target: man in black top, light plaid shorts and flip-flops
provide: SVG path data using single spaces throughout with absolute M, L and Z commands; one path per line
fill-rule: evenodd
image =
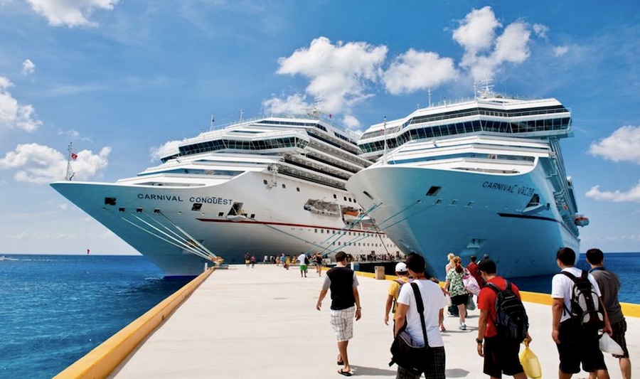
M 362 317 L 360 295 L 358 294 L 358 278 L 353 270 L 346 267 L 348 257 L 346 252 L 336 253 L 336 266 L 326 272 L 324 283 L 316 303 L 320 310 L 322 300 L 331 290 L 331 326 L 334 327 L 338 339 L 338 365 L 344 365 L 338 370 L 340 375 L 351 376 L 351 365 L 347 354 L 349 340 L 353 338 L 353 319 Z

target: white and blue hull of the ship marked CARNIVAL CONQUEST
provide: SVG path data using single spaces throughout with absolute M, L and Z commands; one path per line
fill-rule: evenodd
M 206 262 L 210 264 L 206 257 L 184 248 L 183 244 L 192 243 L 191 240 L 231 264 L 244 262 L 245 253 L 261 261 L 264 255 L 282 253 L 398 252 L 384 233 L 358 228 L 346 231 L 340 215 L 304 209 L 309 199 L 356 205 L 346 191 L 284 176 L 278 178 L 277 185 L 267 186 L 272 178 L 264 172 L 249 171 L 228 181 L 202 186 L 71 181 L 51 186 L 154 262 L 166 277 L 195 276 Z M 201 208 L 195 210 L 196 203 Z M 236 203 L 242 204 L 244 216 L 233 217 Z

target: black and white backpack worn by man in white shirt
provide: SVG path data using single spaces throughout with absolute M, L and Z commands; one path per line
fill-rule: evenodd
M 564 311 L 571 316 L 580 331 L 597 335 L 597 331 L 604 328 L 604 309 L 600 306 L 598 295 L 587 277 L 588 273 L 582 270 L 580 277 L 566 271 L 562 271 L 562 274 L 573 281 L 571 309 L 567 309 L 565 305 Z

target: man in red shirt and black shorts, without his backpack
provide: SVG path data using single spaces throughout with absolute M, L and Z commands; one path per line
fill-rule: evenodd
M 499 289 L 506 289 L 503 277 L 496 274 L 496 262 L 493 260 L 481 260 L 478 264 L 479 272 L 485 283 L 493 283 Z M 516 284 L 511 283 L 511 290 L 520 298 L 520 292 Z M 501 378 L 502 374 L 512 375 L 516 379 L 526 379 L 524 369 L 518 358 L 520 342 L 506 341 L 498 336 L 496 330 L 496 299 L 498 294 L 488 286 L 482 287 L 478 296 L 478 308 L 480 319 L 478 320 L 478 355 L 484 357 L 483 372 L 491 379 Z M 531 337 L 527 333 L 526 339 Z

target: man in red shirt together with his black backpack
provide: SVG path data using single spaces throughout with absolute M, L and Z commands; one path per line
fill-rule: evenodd
M 478 296 L 478 355 L 484 357 L 483 372 L 492 379 L 502 374 L 526 379 L 518 358 L 520 343 L 530 342 L 528 317 L 516 284 L 498 277 L 496 262 L 481 260 L 478 270 L 486 283 Z

